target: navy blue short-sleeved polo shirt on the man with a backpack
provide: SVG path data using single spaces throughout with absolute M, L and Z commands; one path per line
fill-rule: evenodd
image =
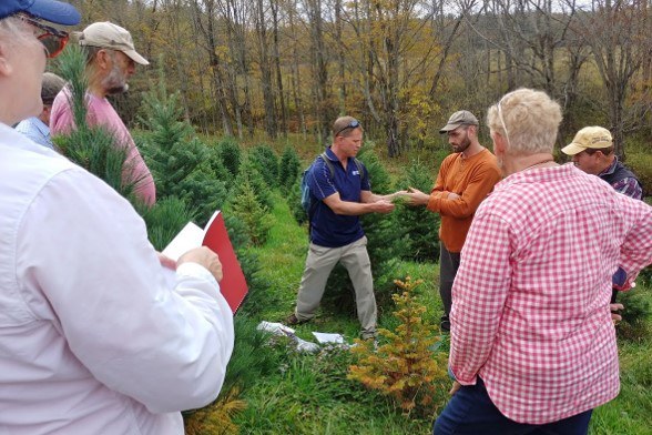
M 310 220 L 310 241 L 319 246 L 340 247 L 365 235 L 360 219 L 335 214 L 324 199 L 339 192 L 343 201 L 360 202 L 360 192 L 371 188 L 366 168 L 360 165 L 364 172 L 360 174 L 353 158 L 348 159 L 345 170 L 330 148 L 326 150 L 326 156 L 333 163 L 335 174 L 332 176 L 326 163 L 317 159 L 308 176 L 310 192 L 318 200 Z

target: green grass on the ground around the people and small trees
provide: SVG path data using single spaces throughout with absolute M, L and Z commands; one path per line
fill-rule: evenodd
M 283 322 L 292 313 L 307 249 L 305 227 L 296 224 L 288 206 L 275 194 L 273 229 L 267 243 L 255 249 L 263 277 L 276 303 L 262 308 L 261 318 Z M 421 279 L 420 302 L 428 307 L 427 320 L 436 323 L 440 315 L 437 292 L 438 266 L 431 263 L 404 262 L 399 276 Z M 649 287 L 635 290 L 652 297 Z M 327 293 L 337 292 L 327 289 Z M 391 306 L 379 306 L 379 325 L 391 327 Z M 626 315 L 626 312 L 625 312 Z M 646 325 L 652 321 L 648 316 Z M 350 312 L 325 304 L 317 317 L 296 327 L 297 335 L 315 342 L 312 331 L 342 333 L 350 343 L 357 337 L 358 322 Z M 649 330 L 648 330 L 649 331 Z M 447 350 L 444 337 L 442 351 Z M 636 341 L 621 341 L 622 391 L 613 402 L 598 408 L 590 434 L 652 434 L 652 348 L 650 335 Z M 236 338 L 237 346 L 237 338 Z M 283 345 L 281 345 L 283 346 Z M 262 347 L 256 352 L 283 352 L 272 373 L 249 380 L 242 393 L 247 408 L 235 417 L 242 434 L 429 434 L 432 416 L 416 417 L 401 412 L 384 396 L 346 378 L 352 355 L 348 351 L 296 354 L 289 347 Z M 436 397 L 439 407 L 448 398 L 448 383 Z

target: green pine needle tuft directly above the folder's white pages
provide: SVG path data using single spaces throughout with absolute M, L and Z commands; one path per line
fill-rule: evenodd
M 183 200 L 167 196 L 156 201 L 154 206 L 145 208 L 142 215 L 150 242 L 156 251 L 163 251 L 185 224 L 194 219 L 195 213 Z

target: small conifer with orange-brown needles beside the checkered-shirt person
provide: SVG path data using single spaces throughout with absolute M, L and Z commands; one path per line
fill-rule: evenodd
M 359 361 L 349 367 L 348 378 L 393 397 L 405 413 L 430 415 L 436 406 L 436 384 L 446 378 L 446 357 L 432 355 L 439 337 L 435 326 L 424 321 L 426 307 L 412 294 L 421 282 L 408 276 L 395 283 L 403 290 L 393 296 L 398 326 L 395 332 L 378 330 L 387 338 L 378 350 L 368 341 L 356 340 L 352 352 Z

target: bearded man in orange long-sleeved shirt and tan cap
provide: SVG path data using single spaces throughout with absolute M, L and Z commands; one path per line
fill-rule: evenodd
M 478 142 L 478 119 L 468 110 L 455 112 L 439 130 L 448 134 L 454 153 L 444 159 L 430 194 L 410 188 L 411 205 L 426 205 L 441 215 L 439 227 L 439 294 L 444 304 L 441 330 L 450 331 L 451 289 L 460 252 L 480 202 L 500 181 L 496 156 Z

